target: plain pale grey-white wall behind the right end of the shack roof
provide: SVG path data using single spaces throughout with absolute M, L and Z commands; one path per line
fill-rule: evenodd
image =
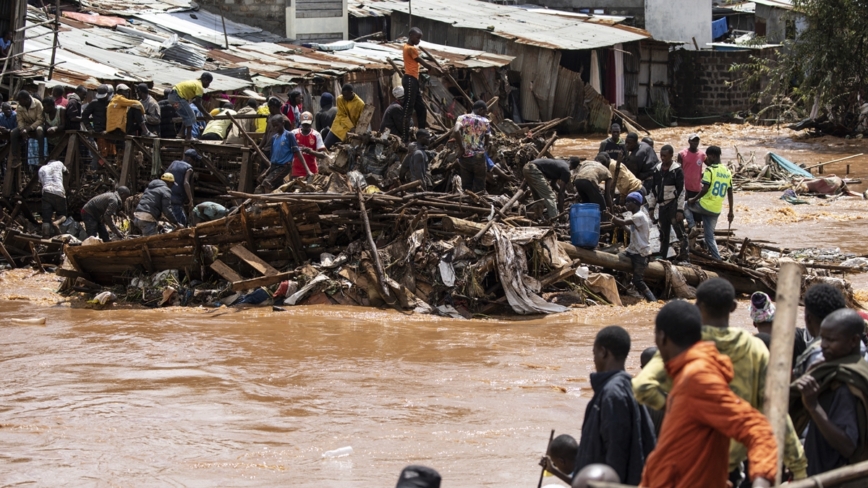
M 660 41 L 681 41 L 685 49 L 708 49 L 712 0 L 645 0 L 645 30 Z

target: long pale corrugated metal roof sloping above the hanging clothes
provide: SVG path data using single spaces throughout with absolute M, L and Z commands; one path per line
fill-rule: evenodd
M 384 12 L 408 12 L 408 4 L 398 0 L 356 0 L 355 3 Z M 519 44 L 549 49 L 597 49 L 651 37 L 641 29 L 473 0 L 413 0 L 413 16 L 452 27 L 487 31 Z

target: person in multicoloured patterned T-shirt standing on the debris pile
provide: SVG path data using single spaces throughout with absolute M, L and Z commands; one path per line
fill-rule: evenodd
M 482 100 L 477 100 L 473 104 L 473 111 L 458 116 L 452 129 L 455 141 L 458 143 L 458 174 L 461 176 L 461 187 L 474 193 L 485 191 L 485 176 L 488 172 L 485 148 L 491 138 L 491 121 L 486 117 L 487 114 L 488 105 Z M 407 120 L 406 113 L 404 120 Z

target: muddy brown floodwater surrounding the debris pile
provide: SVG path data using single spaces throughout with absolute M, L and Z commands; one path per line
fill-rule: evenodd
M 724 157 L 742 138 L 743 154 L 774 147 L 799 162 L 861 152 L 740 126 L 655 131 L 657 147 L 694 130 L 730 134 L 714 136 Z M 598 143 L 557 151 L 588 155 Z M 866 163 L 851 173 L 868 175 Z M 733 228 L 868 252 L 866 202 L 777 198 L 737 194 Z M 550 429 L 580 432 L 596 332 L 630 331 L 635 373 L 660 306 L 501 321 L 338 307 L 99 312 L 58 303 L 56 278 L 27 273 L 0 283 L 3 486 L 393 486 L 405 465 L 425 464 L 444 487 L 530 487 Z M 34 316 L 47 324 L 8 320 Z M 746 302 L 733 320 L 753 330 Z M 343 446 L 353 454 L 322 458 Z

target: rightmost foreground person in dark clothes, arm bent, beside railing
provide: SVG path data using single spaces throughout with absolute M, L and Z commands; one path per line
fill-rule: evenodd
M 790 413 L 798 425 L 799 420 L 808 424 L 809 476 L 855 464 L 868 454 L 868 362 L 860 353 L 864 333 L 865 321 L 855 310 L 829 314 L 820 326 L 823 362 L 792 384 L 801 402 L 791 403 Z

